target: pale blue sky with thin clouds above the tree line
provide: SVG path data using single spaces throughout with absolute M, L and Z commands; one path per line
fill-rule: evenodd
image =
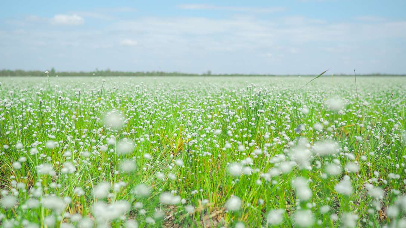
M 406 1 L 11 1 L 0 69 L 406 73 Z

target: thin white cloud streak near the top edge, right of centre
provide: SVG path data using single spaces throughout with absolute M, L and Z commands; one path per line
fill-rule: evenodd
M 216 6 L 209 4 L 181 4 L 178 5 L 181 9 L 211 9 L 211 10 L 227 10 L 239 11 L 247 13 L 274 13 L 284 11 L 282 7 L 239 7 L 239 6 Z

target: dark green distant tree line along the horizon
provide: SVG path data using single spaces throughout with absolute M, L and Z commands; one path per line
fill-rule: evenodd
M 90 72 L 79 71 L 55 71 L 54 68 L 48 70 L 50 76 L 98 76 L 98 77 L 108 77 L 108 76 L 147 76 L 147 77 L 159 77 L 159 76 L 299 76 L 299 75 L 272 75 L 272 74 L 213 74 L 211 71 L 207 71 L 202 74 L 197 73 L 181 73 L 181 72 L 163 72 L 163 71 L 137 71 L 137 72 L 128 72 L 128 71 L 110 71 L 106 70 L 95 70 Z M 45 76 L 45 71 L 24 71 L 24 70 L 7 70 L 3 69 L 0 71 L 0 77 L 14 77 L 14 76 L 28 76 L 28 77 L 38 77 Z M 328 73 L 326 73 L 328 75 Z M 331 75 L 331 74 L 330 74 Z M 308 75 L 302 75 L 308 76 Z M 309 75 L 310 76 L 310 75 Z M 353 76 L 345 74 L 334 74 L 334 76 Z M 406 76 L 404 74 L 365 74 L 357 76 Z

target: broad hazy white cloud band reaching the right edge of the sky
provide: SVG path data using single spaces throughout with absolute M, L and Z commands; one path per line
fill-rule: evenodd
M 250 17 L 211 19 L 205 17 L 158 18 L 147 17 L 121 21 L 114 29 L 142 34 L 142 37 L 162 41 L 194 44 L 202 39 L 214 44 L 241 43 L 247 45 L 272 45 L 275 43 L 304 44 L 307 42 L 353 42 L 406 36 L 406 21 L 380 23 L 327 23 L 311 19 L 285 18 L 263 20 Z M 371 36 L 371 34 L 374 34 Z M 127 34 L 128 35 L 128 34 Z M 197 37 L 188 37 L 196 35 Z M 186 38 L 187 37 L 187 38 Z M 167 43 L 165 43 L 167 44 Z

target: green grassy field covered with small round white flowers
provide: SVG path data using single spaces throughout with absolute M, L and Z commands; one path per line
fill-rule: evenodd
M 311 79 L 2 77 L 0 224 L 406 227 L 406 78 Z

